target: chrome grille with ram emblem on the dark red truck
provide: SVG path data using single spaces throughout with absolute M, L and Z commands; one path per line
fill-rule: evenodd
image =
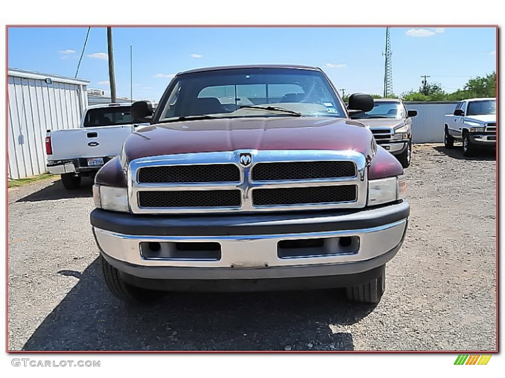
M 352 150 L 145 157 L 128 167 L 130 210 L 163 214 L 360 208 L 366 205 L 365 167 L 365 156 Z

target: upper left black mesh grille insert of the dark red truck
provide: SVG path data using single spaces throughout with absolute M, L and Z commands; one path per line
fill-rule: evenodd
M 164 165 L 138 170 L 139 183 L 238 182 L 235 164 Z

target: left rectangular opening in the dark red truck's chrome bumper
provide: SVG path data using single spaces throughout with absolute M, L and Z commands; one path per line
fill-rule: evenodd
M 221 260 L 221 244 L 218 242 L 140 242 L 143 259 L 154 260 Z

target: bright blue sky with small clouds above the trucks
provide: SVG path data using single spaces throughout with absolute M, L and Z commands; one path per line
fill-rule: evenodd
M 9 28 L 9 67 L 74 77 L 87 28 Z M 345 93 L 382 94 L 385 28 L 376 27 L 116 27 L 116 86 L 133 97 L 158 100 L 173 74 L 235 64 L 321 67 Z M 482 27 L 391 28 L 393 90 L 421 85 L 421 75 L 453 92 L 496 70 L 496 31 Z M 107 30 L 92 27 L 78 77 L 109 91 Z M 341 93 L 341 92 L 340 92 Z

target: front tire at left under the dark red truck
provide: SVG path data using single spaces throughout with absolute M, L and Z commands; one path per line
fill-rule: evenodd
M 130 304 L 156 303 L 163 297 L 163 294 L 158 291 L 129 285 L 121 278 L 119 271 L 110 265 L 102 255 L 100 255 L 100 259 L 102 260 L 105 283 L 115 297 Z

